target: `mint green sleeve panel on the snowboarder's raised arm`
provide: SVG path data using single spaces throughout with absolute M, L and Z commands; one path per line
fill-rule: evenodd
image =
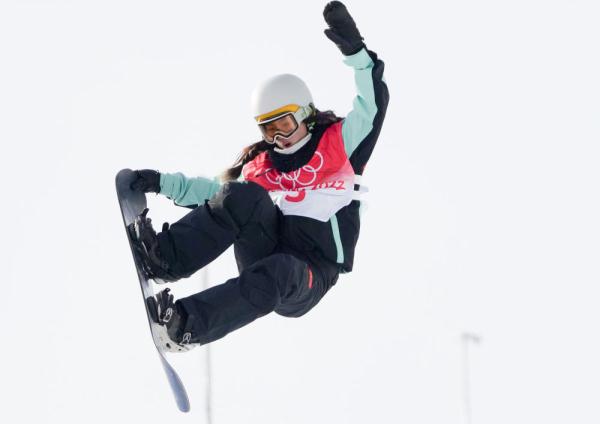
M 377 114 L 372 75 L 375 64 L 364 48 L 352 56 L 346 56 L 344 63 L 354 68 L 357 92 L 352 110 L 342 123 L 344 147 L 346 154 L 350 156 L 373 129 L 373 121 Z

